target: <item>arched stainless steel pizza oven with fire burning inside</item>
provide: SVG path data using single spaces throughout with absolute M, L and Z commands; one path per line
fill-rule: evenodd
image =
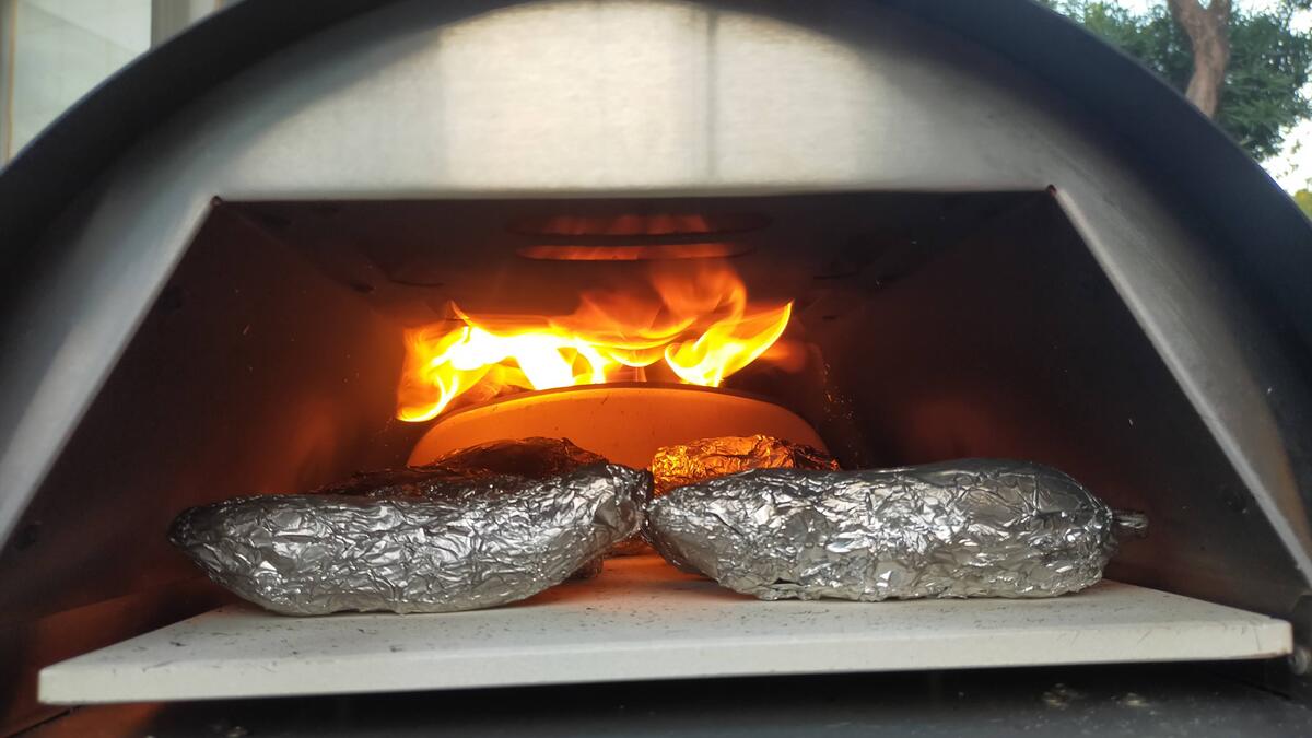
M 9 729 L 980 668 L 1061 708 L 1085 663 L 1303 699 L 1312 231 L 1147 72 L 1019 0 L 285 13 L 218 13 L 0 173 Z M 522 347 L 417 378 L 508 326 Z M 1031 460 L 1149 534 L 1047 609 L 753 609 L 621 562 L 447 620 L 241 609 L 165 538 L 190 506 L 499 436 L 640 466 L 718 432 L 853 469 Z

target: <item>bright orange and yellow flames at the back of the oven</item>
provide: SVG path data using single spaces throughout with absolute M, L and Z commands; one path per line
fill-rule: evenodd
M 761 357 L 792 315 L 791 302 L 749 306 L 723 264 L 653 272 L 651 288 L 584 294 L 572 314 L 552 318 L 474 316 L 451 303 L 453 320 L 405 331 L 396 416 L 429 420 L 467 393 L 642 381 L 648 369 L 715 387 Z

